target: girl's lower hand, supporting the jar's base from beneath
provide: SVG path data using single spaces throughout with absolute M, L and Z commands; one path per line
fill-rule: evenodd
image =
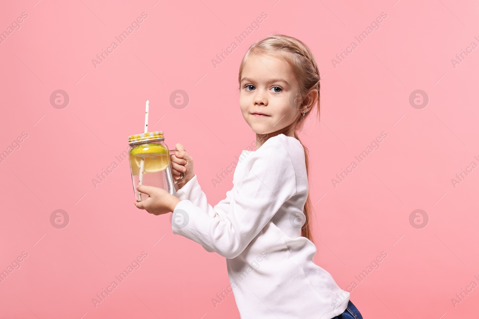
M 135 206 L 139 209 L 146 209 L 150 214 L 161 215 L 169 213 L 181 201 L 181 199 L 171 195 L 163 188 L 138 185 L 137 190 L 140 193 L 147 194 L 148 198 L 142 201 L 136 200 Z

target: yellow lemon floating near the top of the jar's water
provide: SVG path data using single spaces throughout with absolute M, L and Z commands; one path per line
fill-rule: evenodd
M 160 172 L 170 165 L 170 156 L 165 147 L 158 144 L 139 145 L 130 153 L 131 171 L 139 175 L 141 159 L 145 159 L 144 173 Z

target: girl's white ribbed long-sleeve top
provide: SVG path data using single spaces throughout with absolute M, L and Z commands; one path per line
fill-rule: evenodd
M 308 177 L 296 138 L 279 134 L 257 151 L 242 151 L 233 188 L 215 207 L 196 176 L 176 196 L 182 200 L 173 233 L 227 258 L 242 319 L 331 319 L 344 312 L 350 294 L 314 264 L 316 246 L 301 237 Z

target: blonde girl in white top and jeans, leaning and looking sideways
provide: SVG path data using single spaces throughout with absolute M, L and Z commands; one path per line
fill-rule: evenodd
M 256 133 L 256 151 L 241 152 L 226 198 L 207 203 L 182 144 L 171 155 L 173 174 L 186 174 L 176 197 L 137 187 L 149 195 L 137 208 L 172 211 L 174 234 L 227 258 L 242 319 L 362 319 L 349 293 L 313 262 L 308 151 L 297 132 L 311 112 L 319 116 L 319 79 L 313 54 L 296 38 L 252 44 L 239 66 L 239 107 Z

